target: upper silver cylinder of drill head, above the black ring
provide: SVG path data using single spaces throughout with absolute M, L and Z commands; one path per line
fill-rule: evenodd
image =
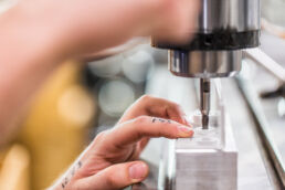
M 200 2 L 201 13 L 196 27 L 196 31 L 200 33 L 260 29 L 260 0 L 200 0 Z

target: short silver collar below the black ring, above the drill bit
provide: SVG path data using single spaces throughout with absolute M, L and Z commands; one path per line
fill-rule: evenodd
M 169 70 L 183 77 L 229 77 L 241 70 L 241 51 L 169 51 Z

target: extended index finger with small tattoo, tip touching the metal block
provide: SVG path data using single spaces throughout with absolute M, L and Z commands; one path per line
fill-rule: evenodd
M 133 120 L 120 124 L 106 134 L 106 140 L 116 147 L 137 142 L 142 137 L 187 138 L 193 135 L 191 127 L 175 120 L 139 116 Z

